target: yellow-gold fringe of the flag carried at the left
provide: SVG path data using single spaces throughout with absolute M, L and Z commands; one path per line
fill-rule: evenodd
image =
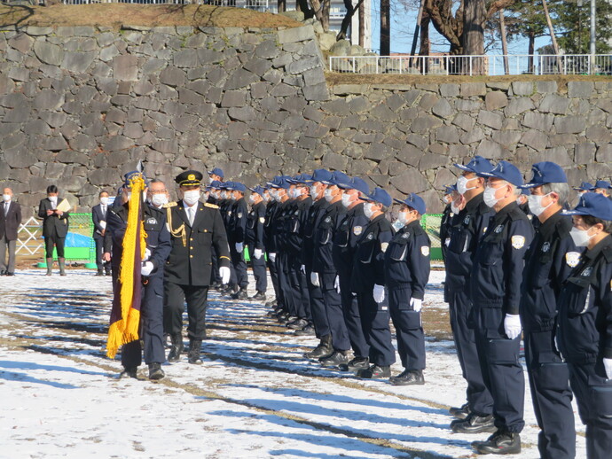
M 129 198 L 128 222 L 123 236 L 122 263 L 118 282 L 121 286 L 121 319 L 111 323 L 108 329 L 108 341 L 106 343 L 106 355 L 111 359 L 117 354 L 119 347 L 138 339 L 138 327 L 140 325 L 140 309 L 132 307 L 134 290 L 140 292 L 139 282 L 140 266 L 138 261 L 145 258 L 145 227 L 140 218 L 140 206 L 142 205 L 142 193 L 145 190 L 145 180 L 141 175 L 129 180 L 131 197 Z M 139 231 L 138 231 L 139 227 Z M 140 237 L 138 237 L 140 233 Z M 137 249 L 140 256 L 137 257 Z M 135 272 L 137 268 L 137 273 Z M 139 299 L 138 299 L 139 302 Z

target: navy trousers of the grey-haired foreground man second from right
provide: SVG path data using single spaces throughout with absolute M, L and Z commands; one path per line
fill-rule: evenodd
M 571 459 L 576 456 L 576 428 L 569 369 L 553 339 L 553 331 L 525 331 L 531 398 L 541 429 L 537 448 L 542 459 Z

